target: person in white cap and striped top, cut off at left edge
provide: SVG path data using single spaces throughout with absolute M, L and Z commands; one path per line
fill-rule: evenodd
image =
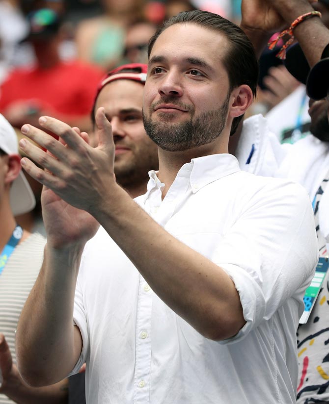
M 67 380 L 32 388 L 16 368 L 15 330 L 22 307 L 37 278 L 46 239 L 17 225 L 14 215 L 34 206 L 21 171 L 14 129 L 0 115 L 0 403 L 67 403 Z

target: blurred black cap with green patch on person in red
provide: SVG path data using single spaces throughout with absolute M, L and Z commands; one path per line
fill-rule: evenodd
M 51 8 L 40 8 L 32 11 L 27 15 L 27 20 L 29 33 L 22 42 L 51 38 L 56 35 L 60 27 L 59 15 Z

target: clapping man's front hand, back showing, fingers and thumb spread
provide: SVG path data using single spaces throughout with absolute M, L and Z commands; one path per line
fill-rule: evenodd
M 25 154 L 46 170 L 38 168 L 27 158 L 22 159 L 24 169 L 72 206 L 88 212 L 99 208 L 107 200 L 105 193 L 119 187 L 113 171 L 115 146 L 112 130 L 104 108 L 99 108 L 96 113 L 97 148 L 89 146 L 77 130 L 55 118 L 41 117 L 39 123 L 60 140 L 34 126 L 24 125 L 22 133 L 50 152 L 21 140 L 20 147 Z

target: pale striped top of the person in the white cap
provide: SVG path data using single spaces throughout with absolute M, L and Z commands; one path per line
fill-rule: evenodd
M 0 332 L 8 342 L 13 361 L 15 355 L 15 329 L 27 296 L 41 268 L 46 239 L 31 234 L 11 254 L 0 275 Z M 0 404 L 13 403 L 0 394 Z

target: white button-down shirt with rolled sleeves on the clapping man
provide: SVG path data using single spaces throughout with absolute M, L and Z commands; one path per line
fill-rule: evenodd
M 246 324 L 228 340 L 204 338 L 101 228 L 85 248 L 74 308 L 83 340 L 74 372 L 87 361 L 87 402 L 295 403 L 296 329 L 318 257 L 306 191 L 242 172 L 230 154 L 192 159 L 163 201 L 162 187 L 150 172 L 136 202 L 227 272 Z

